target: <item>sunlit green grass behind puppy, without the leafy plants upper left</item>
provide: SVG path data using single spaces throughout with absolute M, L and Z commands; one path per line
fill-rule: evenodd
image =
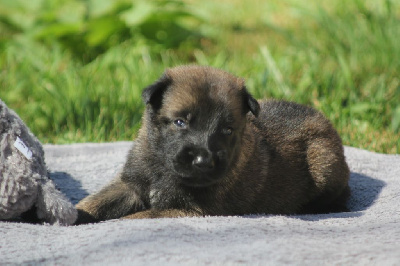
M 127 140 L 142 88 L 197 63 L 244 77 L 259 99 L 321 110 L 346 145 L 400 153 L 398 1 L 186 2 L 204 17 L 200 46 L 154 52 L 128 39 L 84 63 L 24 34 L 0 43 L 0 98 L 43 142 Z

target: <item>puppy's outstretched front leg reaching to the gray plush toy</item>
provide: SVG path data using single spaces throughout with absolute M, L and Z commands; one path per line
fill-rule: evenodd
M 131 184 L 117 177 L 98 193 L 81 200 L 76 208 L 78 219 L 75 224 L 83 224 L 121 218 L 144 210 L 145 204 Z

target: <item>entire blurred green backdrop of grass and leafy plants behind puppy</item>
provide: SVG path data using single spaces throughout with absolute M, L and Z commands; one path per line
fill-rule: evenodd
M 0 0 L 0 99 L 43 143 L 134 139 L 142 89 L 180 64 L 400 153 L 399 0 Z

